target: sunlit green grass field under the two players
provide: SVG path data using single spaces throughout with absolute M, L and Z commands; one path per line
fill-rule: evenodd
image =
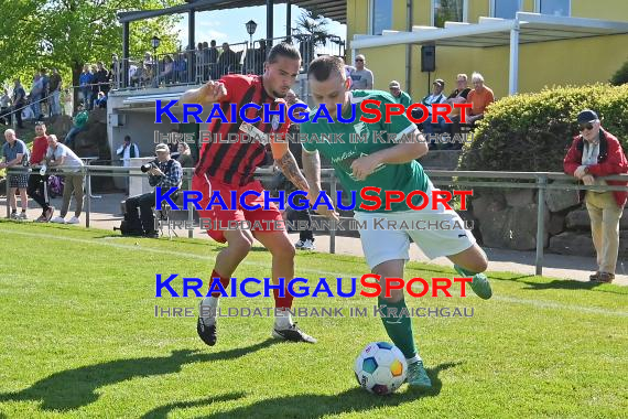
M 300 319 L 318 344 L 269 340 L 272 319 L 220 319 L 205 346 L 196 318 L 155 318 L 155 273 L 206 279 L 219 246 L 0 222 L 0 418 L 626 418 L 628 290 L 492 272 L 495 297 L 410 299 L 474 308 L 473 318 L 413 325 L 435 385 L 389 397 L 358 388 L 353 363 L 387 340 L 381 321 Z M 270 273 L 256 248 L 235 273 Z M 300 276 L 359 276 L 361 258 L 300 254 Z M 407 278 L 453 276 L 412 262 Z M 181 283 L 181 282 L 178 282 Z M 178 287 L 181 289 L 181 287 Z M 372 308 L 371 299 L 295 299 L 301 307 Z M 272 307 L 225 299 L 223 308 Z M 347 313 L 347 312 L 345 312 Z

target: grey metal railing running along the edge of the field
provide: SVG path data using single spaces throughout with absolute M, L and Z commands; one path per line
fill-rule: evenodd
M 33 166 L 33 170 L 37 170 L 39 166 Z M 76 170 L 76 168 L 69 166 L 58 166 L 55 170 L 69 169 Z M 9 168 L 8 172 L 12 170 Z M 445 185 L 445 186 L 483 186 L 492 189 L 534 189 L 539 193 L 537 195 L 537 257 L 535 257 L 535 275 L 543 275 L 543 250 L 544 250 L 544 234 L 545 234 L 545 192 L 548 190 L 559 190 L 559 191 L 595 191 L 595 192 L 607 192 L 607 191 L 626 191 L 628 192 L 628 185 L 616 186 L 616 185 L 583 185 L 576 183 L 550 183 L 550 181 L 574 181 L 574 178 L 560 172 L 495 172 L 495 171 L 447 171 L 447 170 L 425 170 L 432 183 L 434 185 Z M 24 174 L 24 172 L 21 172 Z M 123 166 L 110 166 L 110 165 L 85 165 L 82 168 L 80 173 L 85 176 L 85 226 L 89 227 L 90 219 L 89 215 L 91 212 L 91 176 L 145 176 L 140 168 L 123 168 Z M 61 173 L 63 174 L 63 172 Z M 188 181 L 188 187 L 192 187 L 192 176 L 194 174 L 194 169 L 184 168 L 184 178 Z M 272 169 L 258 169 L 256 171 L 256 178 L 270 178 L 274 175 L 275 172 Z M 470 179 L 485 181 L 474 181 Z M 628 183 L 628 174 L 619 174 L 613 176 L 600 176 L 596 178 L 605 181 L 624 181 Z M 494 180 L 494 181 L 486 181 Z M 497 181 L 496 181 L 497 180 Z M 516 181 L 530 181 L 530 182 L 513 182 Z M 334 206 L 336 206 L 336 191 L 337 182 L 334 174 L 334 169 L 322 169 L 321 170 L 321 181 L 329 183 L 329 194 Z M 7 182 L 7 217 L 10 217 L 9 207 L 9 182 Z M 188 222 L 193 222 L 193 208 L 188 208 Z M 188 237 L 193 237 L 193 230 L 188 230 Z M 329 229 L 329 253 L 334 254 L 336 251 L 336 232 Z

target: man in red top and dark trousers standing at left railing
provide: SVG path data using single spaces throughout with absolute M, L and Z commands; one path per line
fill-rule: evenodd
M 48 136 L 46 135 L 46 126 L 44 122 L 39 122 L 35 126 L 35 135 L 33 151 L 31 152 L 31 165 L 40 164 L 45 161 L 46 149 L 48 148 Z M 54 208 L 50 205 L 47 181 L 47 174 L 41 175 L 39 170 L 33 171 L 29 176 L 29 185 L 26 187 L 29 196 L 42 207 L 42 215 L 36 219 L 40 223 L 50 222 L 54 212 Z

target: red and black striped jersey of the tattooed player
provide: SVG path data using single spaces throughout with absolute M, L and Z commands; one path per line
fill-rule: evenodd
M 280 104 L 285 104 L 283 99 L 275 99 L 267 94 L 263 88 L 262 76 L 232 74 L 224 76 L 219 82 L 227 89 L 227 96 L 220 100 L 220 109 L 227 120 L 231 120 L 229 106 L 231 103 L 237 104 L 236 111 L 249 103 L 257 104 L 260 107 L 263 104 L 270 104 L 272 110 L 277 110 Z M 249 108 L 247 117 L 255 118 L 256 116 L 260 117 L 260 121 L 252 123 L 252 126 L 263 133 L 277 133 L 278 137 L 281 137 L 288 132 L 290 127 L 288 115 L 284 123 L 278 123 L 274 116 L 269 118 L 269 123 L 264 123 L 263 108 L 259 111 Z M 236 138 L 235 135 L 240 138 L 241 123 L 242 119 L 239 115 L 236 123 L 223 123 L 219 119 L 214 119 L 209 123 L 208 130 L 214 138 L 205 139 L 208 142 L 205 142 L 201 149 L 201 158 L 195 171 L 197 175 L 207 174 L 207 176 L 223 183 L 237 186 L 252 182 L 256 168 L 266 160 L 267 147 L 258 141 L 250 140 L 250 142 L 228 143 L 228 139 Z

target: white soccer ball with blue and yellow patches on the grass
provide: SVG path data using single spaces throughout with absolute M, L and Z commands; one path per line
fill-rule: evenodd
M 397 390 L 408 373 L 408 363 L 399 347 L 387 342 L 372 342 L 358 355 L 354 366 L 358 384 L 376 395 Z

